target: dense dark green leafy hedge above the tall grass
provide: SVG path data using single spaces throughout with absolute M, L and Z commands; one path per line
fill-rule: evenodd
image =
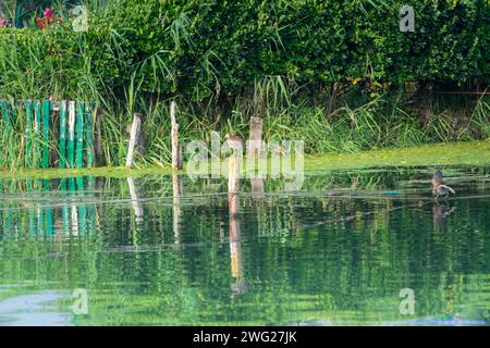
M 417 1 L 415 33 L 399 29 L 404 2 L 109 1 L 90 8 L 88 33 L 70 23 L 46 33 L 0 29 L 1 94 L 20 92 L 13 60 L 17 73 L 37 74 L 28 85 L 37 90 L 79 94 L 88 78 L 111 91 L 133 76 L 146 91 L 194 100 L 237 95 L 270 75 L 364 89 L 489 83 L 487 0 Z

